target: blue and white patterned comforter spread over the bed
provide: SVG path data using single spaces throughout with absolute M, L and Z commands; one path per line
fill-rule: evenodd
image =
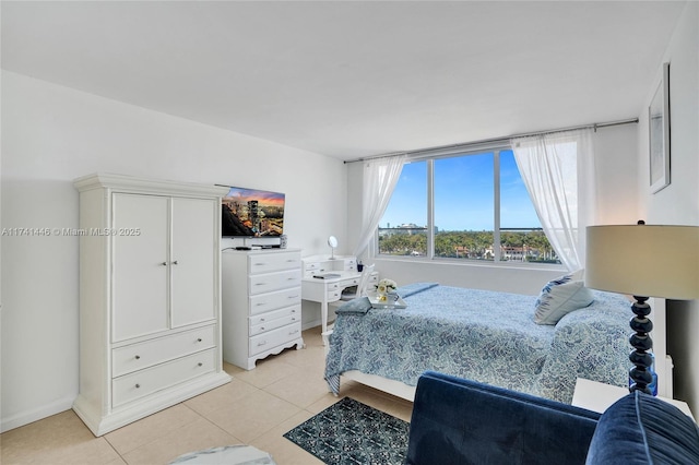
M 337 314 L 325 380 L 359 370 L 416 385 L 435 370 L 570 403 L 576 378 L 628 382 L 630 302 L 594 291 L 594 302 L 555 326 L 534 323 L 536 296 L 438 285 L 398 290 L 406 309 Z

